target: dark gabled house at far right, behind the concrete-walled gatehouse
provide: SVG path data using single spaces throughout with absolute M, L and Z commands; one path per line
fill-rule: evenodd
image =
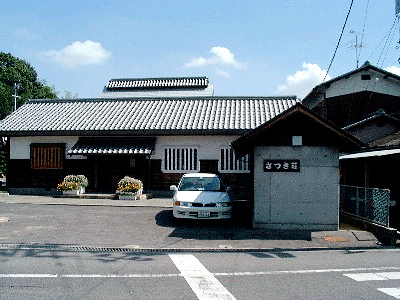
M 390 223 L 399 228 L 400 77 L 366 62 L 316 86 L 302 104 L 367 143 L 340 157 L 340 183 L 389 189 L 392 205 L 397 203 Z

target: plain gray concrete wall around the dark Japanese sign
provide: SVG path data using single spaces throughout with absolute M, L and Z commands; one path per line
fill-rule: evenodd
M 263 163 L 268 159 L 298 159 L 300 172 L 264 172 Z M 338 203 L 339 153 L 336 149 L 254 149 L 254 227 L 337 230 Z

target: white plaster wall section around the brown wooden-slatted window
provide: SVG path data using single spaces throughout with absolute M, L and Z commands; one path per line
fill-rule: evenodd
M 30 159 L 32 143 L 65 143 L 68 152 L 78 141 L 76 136 L 29 136 L 10 137 L 10 159 Z M 66 159 L 86 159 L 82 155 L 66 155 Z

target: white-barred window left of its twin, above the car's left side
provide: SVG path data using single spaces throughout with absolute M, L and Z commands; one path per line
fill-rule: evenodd
M 187 172 L 198 170 L 197 148 L 164 149 L 164 170 L 168 172 Z

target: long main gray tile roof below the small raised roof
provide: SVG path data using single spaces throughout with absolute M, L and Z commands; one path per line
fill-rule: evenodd
M 6 117 L 0 135 L 239 134 L 296 97 L 31 100 Z

